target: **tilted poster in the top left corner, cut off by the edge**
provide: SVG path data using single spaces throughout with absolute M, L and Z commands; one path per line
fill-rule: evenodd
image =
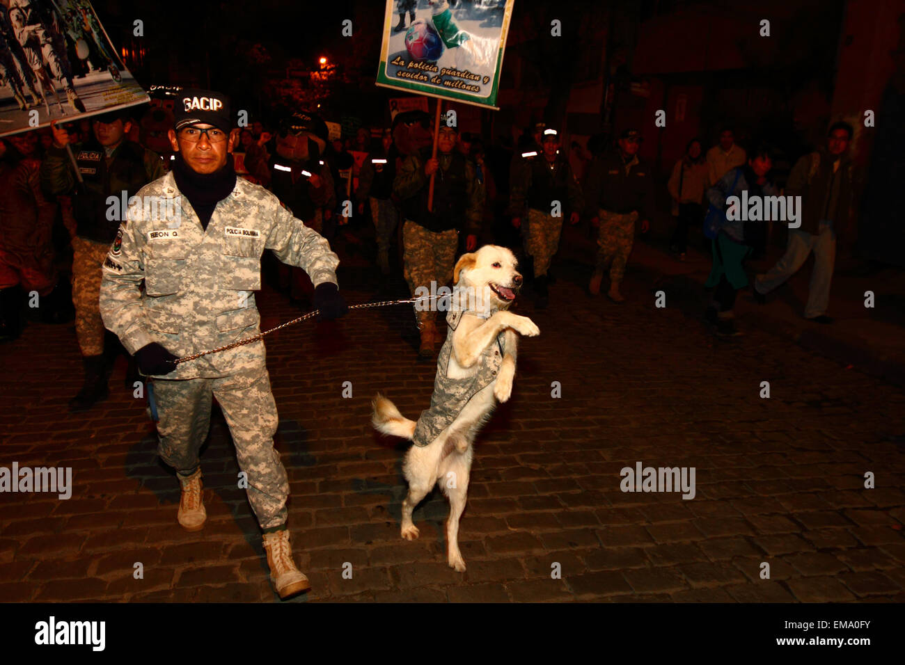
M 0 136 L 147 101 L 88 0 L 0 0 Z

